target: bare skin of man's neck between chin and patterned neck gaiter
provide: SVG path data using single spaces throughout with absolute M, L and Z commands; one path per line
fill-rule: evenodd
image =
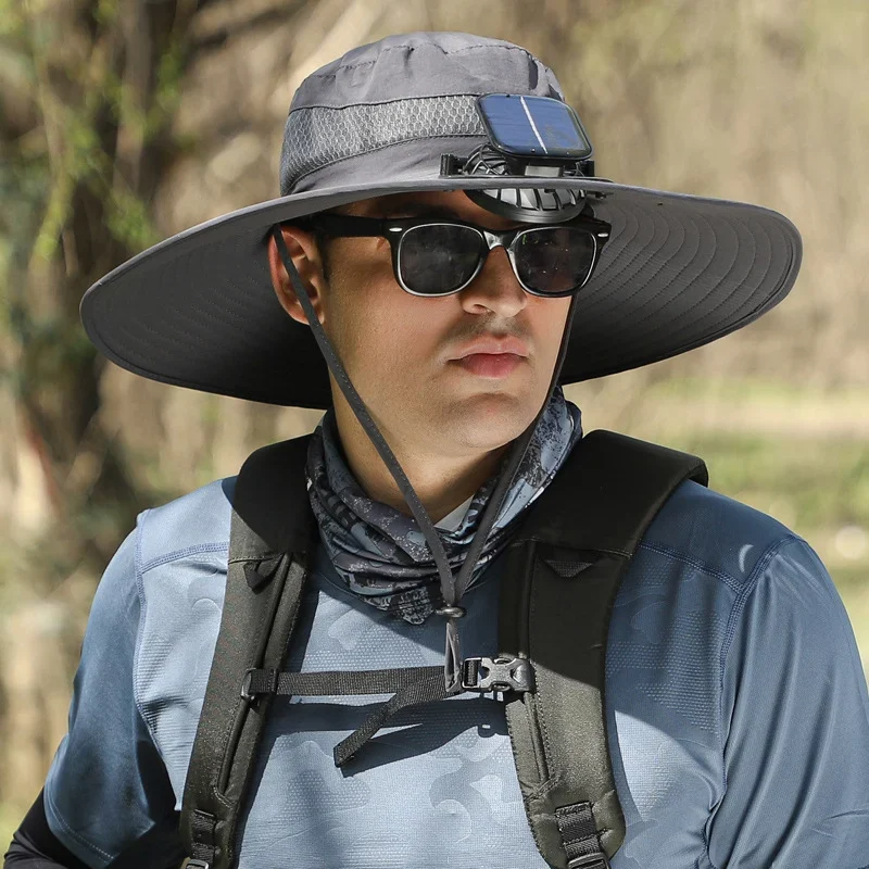
M 377 448 L 344 402 L 336 404 L 336 421 L 348 467 L 363 491 L 374 501 L 412 515 Z M 442 449 L 438 452 L 432 449 L 442 448 L 442 443 L 407 443 L 391 434 L 379 423 L 377 427 L 407 475 L 426 513 L 436 524 L 467 501 L 494 474 L 509 446 L 505 444 L 476 454 L 444 455 Z

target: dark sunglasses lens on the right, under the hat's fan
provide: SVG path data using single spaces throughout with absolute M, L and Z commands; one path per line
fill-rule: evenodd
M 594 264 L 594 236 L 577 226 L 530 229 L 516 244 L 519 280 L 540 295 L 567 295 L 581 287 Z

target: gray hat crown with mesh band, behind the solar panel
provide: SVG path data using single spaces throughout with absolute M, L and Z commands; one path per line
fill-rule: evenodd
M 299 87 L 284 130 L 280 193 L 392 176 L 426 180 L 441 155 L 487 141 L 482 93 L 564 100 L 552 70 L 512 42 L 459 33 L 389 36 Z

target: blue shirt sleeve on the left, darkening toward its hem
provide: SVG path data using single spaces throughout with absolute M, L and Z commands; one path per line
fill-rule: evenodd
M 182 859 L 168 773 L 136 703 L 141 601 L 136 532 L 97 587 L 73 683 L 67 734 L 43 789 L 51 832 L 95 869 Z

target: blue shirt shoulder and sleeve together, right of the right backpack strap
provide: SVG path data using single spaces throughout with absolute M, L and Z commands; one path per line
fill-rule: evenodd
M 626 856 L 809 867 L 834 841 L 835 865 L 862 865 L 865 677 L 835 587 L 791 529 L 683 483 L 621 583 L 606 667 Z

